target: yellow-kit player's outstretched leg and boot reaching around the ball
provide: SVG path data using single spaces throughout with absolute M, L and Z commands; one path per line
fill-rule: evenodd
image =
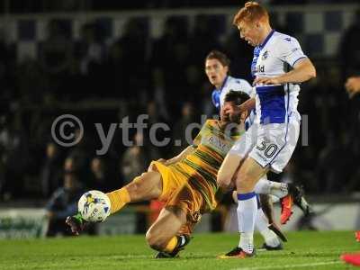
M 135 177 L 121 189 L 106 193 L 111 202 L 111 214 L 120 211 L 129 202 L 140 202 L 157 199 L 162 192 L 162 179 L 157 171 L 150 171 Z M 78 235 L 87 226 L 80 213 L 67 217 L 67 225 Z

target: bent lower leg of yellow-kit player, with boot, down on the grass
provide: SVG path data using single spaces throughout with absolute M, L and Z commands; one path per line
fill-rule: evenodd
M 185 223 L 186 213 L 178 207 L 166 207 L 160 212 L 146 234 L 148 245 L 159 251 L 157 258 L 176 257 L 188 244 L 190 238 L 187 235 L 176 236 Z

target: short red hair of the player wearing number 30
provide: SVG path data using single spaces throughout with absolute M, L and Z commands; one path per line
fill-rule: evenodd
M 238 11 L 238 14 L 235 15 L 232 23 L 238 25 L 242 21 L 252 23 L 260 20 L 265 20 L 267 23 L 269 22 L 269 14 L 266 9 L 257 2 L 247 2 L 244 7 Z

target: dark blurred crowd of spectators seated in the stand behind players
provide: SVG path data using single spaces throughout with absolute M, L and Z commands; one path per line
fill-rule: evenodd
M 0 201 L 48 199 L 69 173 L 86 188 L 107 192 L 146 170 L 150 160 L 172 157 L 184 148 L 186 126 L 200 122 L 201 114 L 217 113 L 203 68 L 207 53 L 226 52 L 231 74 L 252 80 L 252 49 L 238 40 L 235 28 L 220 39 L 216 18 L 203 15 L 194 25 L 190 31 L 184 18 L 169 18 L 163 35 L 153 40 L 143 21 L 131 19 L 121 38 L 108 44 L 96 23 L 85 24 L 80 40 L 71 40 L 67 28 L 54 20 L 40 57 L 22 61 L 0 35 Z M 357 25 L 343 40 L 356 39 Z M 347 76 L 360 74 L 360 59 L 344 57 L 360 55 L 352 44 L 344 41 L 336 60 L 315 59 L 318 78 L 302 86 L 299 111 L 308 116 L 301 141 L 309 146 L 298 145 L 281 177 L 303 184 L 308 193 L 360 191 L 360 95 L 350 98 L 344 88 Z M 85 123 L 85 137 L 72 148 L 51 139 L 51 123 L 62 113 Z M 136 121 L 140 113 L 149 115 L 148 126 L 168 123 L 171 130 L 157 137 L 172 142 L 155 147 L 147 131 L 130 130 L 138 143 L 126 148 L 118 129 L 107 153 L 96 156 L 101 147 L 95 122 L 106 130 L 127 116 Z M 175 139 L 183 144 L 174 146 Z

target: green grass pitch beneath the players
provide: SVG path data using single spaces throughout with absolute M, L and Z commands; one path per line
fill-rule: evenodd
M 339 260 L 360 251 L 353 231 L 287 234 L 284 251 L 257 252 L 248 259 L 218 259 L 235 247 L 236 234 L 195 234 L 175 259 L 155 259 L 142 235 L 0 240 L 0 269 L 356 269 Z M 257 246 L 262 244 L 257 235 Z

